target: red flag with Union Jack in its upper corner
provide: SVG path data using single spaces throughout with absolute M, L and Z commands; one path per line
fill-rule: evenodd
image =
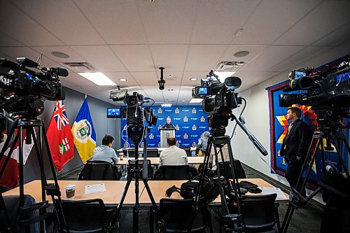
M 52 160 L 57 170 L 62 171 L 64 164 L 74 157 L 73 134 L 62 100 L 56 102 L 47 134 Z

